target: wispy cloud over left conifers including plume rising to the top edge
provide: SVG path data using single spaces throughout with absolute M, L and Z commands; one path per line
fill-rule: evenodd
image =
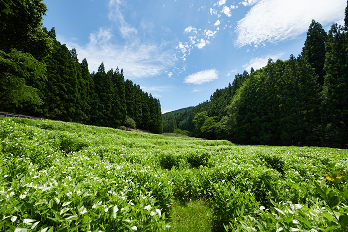
M 167 49 L 165 44 L 141 41 L 138 28 L 125 20 L 121 7 L 126 7 L 122 0 L 109 0 L 108 18 L 118 29 L 123 41 L 115 39 L 113 26 L 101 27 L 99 31 L 90 33 L 89 42 L 85 45 L 66 38 L 59 40 L 69 48 L 75 47 L 80 60 L 87 59 L 90 72 L 96 71 L 102 61 L 106 69 L 115 69 L 117 66 L 123 68 L 125 76 L 130 79 L 157 76 L 172 67 L 173 51 Z M 144 23 L 140 27 L 146 29 Z

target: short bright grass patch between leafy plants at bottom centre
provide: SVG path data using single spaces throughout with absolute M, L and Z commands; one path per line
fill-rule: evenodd
M 212 211 L 205 201 L 174 202 L 172 232 L 212 232 Z

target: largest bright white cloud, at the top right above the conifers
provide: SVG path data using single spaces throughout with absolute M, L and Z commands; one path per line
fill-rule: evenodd
M 315 19 L 322 25 L 344 18 L 345 0 L 261 0 L 238 21 L 236 46 L 293 39 Z

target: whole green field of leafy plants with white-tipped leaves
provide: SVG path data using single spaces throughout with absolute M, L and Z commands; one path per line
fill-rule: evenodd
M 342 149 L 0 117 L 0 231 L 348 231 L 347 171 Z

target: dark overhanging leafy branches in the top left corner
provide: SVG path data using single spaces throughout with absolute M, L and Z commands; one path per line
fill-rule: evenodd
M 52 39 L 42 29 L 46 10 L 42 0 L 1 0 L 0 50 L 9 53 L 15 48 L 43 61 L 52 48 Z

